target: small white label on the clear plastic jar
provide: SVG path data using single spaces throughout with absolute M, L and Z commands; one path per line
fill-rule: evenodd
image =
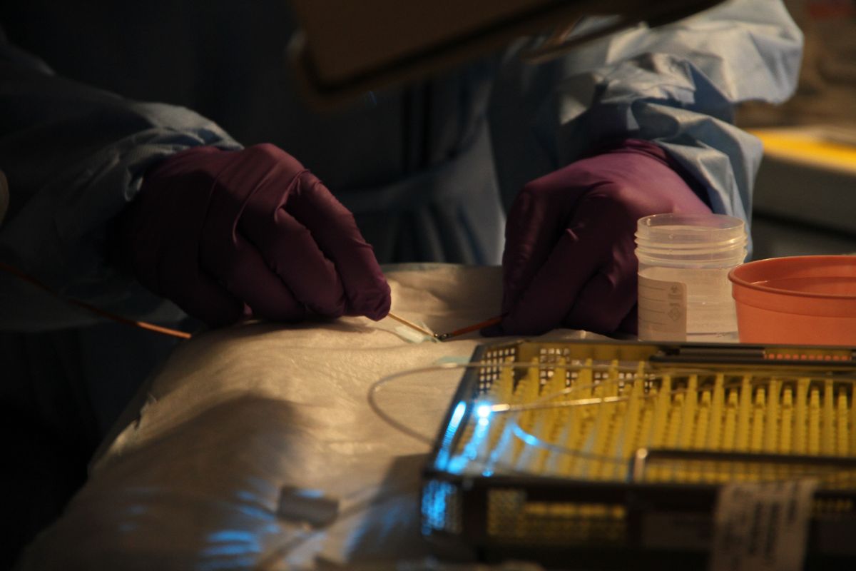
M 687 285 L 639 276 L 639 339 L 687 341 Z

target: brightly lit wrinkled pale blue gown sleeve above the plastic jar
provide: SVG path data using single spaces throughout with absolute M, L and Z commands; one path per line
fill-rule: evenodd
M 650 140 L 703 185 L 713 211 L 749 221 L 763 150 L 734 127 L 735 105 L 790 97 L 801 43 L 787 9 L 770 0 L 597 40 L 556 62 L 565 79 L 539 110 L 539 136 L 559 164 L 604 141 Z

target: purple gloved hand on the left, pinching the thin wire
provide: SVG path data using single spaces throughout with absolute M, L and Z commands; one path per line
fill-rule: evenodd
M 119 231 L 140 282 L 207 324 L 389 312 L 389 285 L 354 217 L 276 146 L 164 159 Z

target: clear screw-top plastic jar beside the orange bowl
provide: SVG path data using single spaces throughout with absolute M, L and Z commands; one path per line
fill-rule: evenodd
M 746 259 L 746 224 L 722 214 L 639 218 L 639 339 L 735 342 L 728 271 Z

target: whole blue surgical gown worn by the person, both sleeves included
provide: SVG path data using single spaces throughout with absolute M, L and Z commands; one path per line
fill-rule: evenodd
M 622 137 L 663 146 L 714 210 L 748 219 L 761 146 L 734 127 L 734 105 L 788 98 L 801 53 L 782 3 L 731 0 L 537 66 L 518 56 L 538 39 L 520 39 L 321 114 L 284 61 L 286 3 L 31 0 L 0 19 L 0 262 L 160 322 L 181 312 L 120 269 L 110 223 L 174 152 L 276 143 L 354 211 L 381 262 L 497 264 L 514 193 Z M 0 330 L 99 320 L 0 271 Z

